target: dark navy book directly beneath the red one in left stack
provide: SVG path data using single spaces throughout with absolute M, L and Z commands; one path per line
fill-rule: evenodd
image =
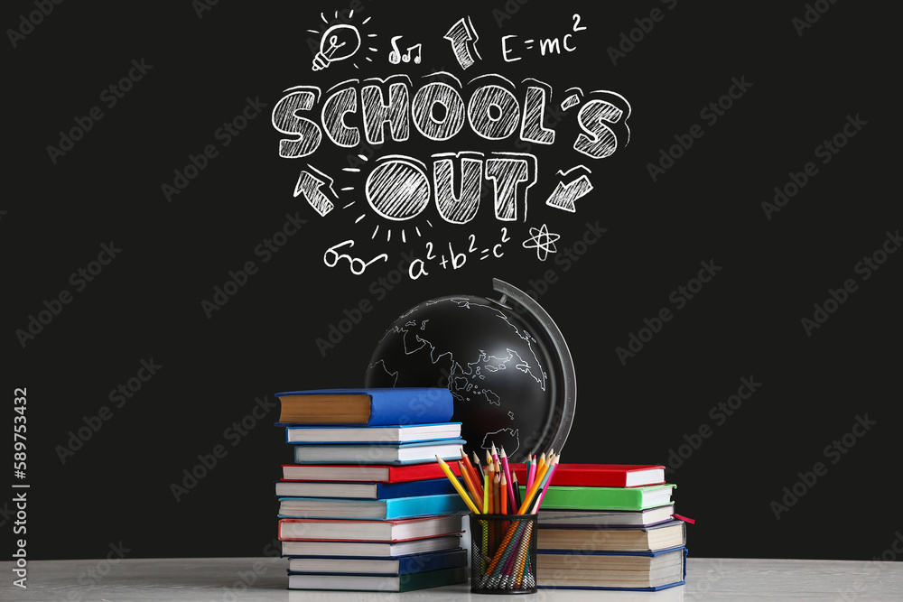
M 453 494 L 452 481 L 428 478 L 407 483 L 348 483 L 342 481 L 276 481 L 277 497 L 351 497 L 393 499 L 413 495 Z

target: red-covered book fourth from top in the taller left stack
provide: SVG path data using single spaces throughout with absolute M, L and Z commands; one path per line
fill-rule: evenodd
M 449 462 L 456 477 L 458 463 Z M 446 478 L 438 462 L 386 466 L 378 464 L 283 464 L 285 481 L 348 481 L 368 483 L 408 483 L 430 478 Z

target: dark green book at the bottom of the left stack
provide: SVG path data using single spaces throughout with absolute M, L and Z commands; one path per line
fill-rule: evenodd
M 317 575 L 294 573 L 288 577 L 289 589 L 336 589 L 346 591 L 413 591 L 466 583 L 467 567 L 424 570 L 409 575 Z

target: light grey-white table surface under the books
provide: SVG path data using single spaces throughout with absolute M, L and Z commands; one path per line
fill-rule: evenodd
M 289 591 L 287 560 L 191 558 L 34 560 L 28 588 L 15 587 L 12 562 L 0 562 L 0 600 L 81 602 L 191 600 L 255 602 L 301 600 L 464 600 L 470 586 L 423 589 L 404 594 Z M 248 584 L 249 585 L 246 585 Z M 525 599 L 668 602 L 674 600 L 903 600 L 903 563 L 852 560 L 687 559 L 686 585 L 659 592 L 546 590 Z

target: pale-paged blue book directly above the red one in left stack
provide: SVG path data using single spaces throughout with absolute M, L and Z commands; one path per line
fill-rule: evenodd
M 415 464 L 442 459 L 461 459 L 466 441 L 443 439 L 416 443 L 378 445 L 293 445 L 295 464 Z

